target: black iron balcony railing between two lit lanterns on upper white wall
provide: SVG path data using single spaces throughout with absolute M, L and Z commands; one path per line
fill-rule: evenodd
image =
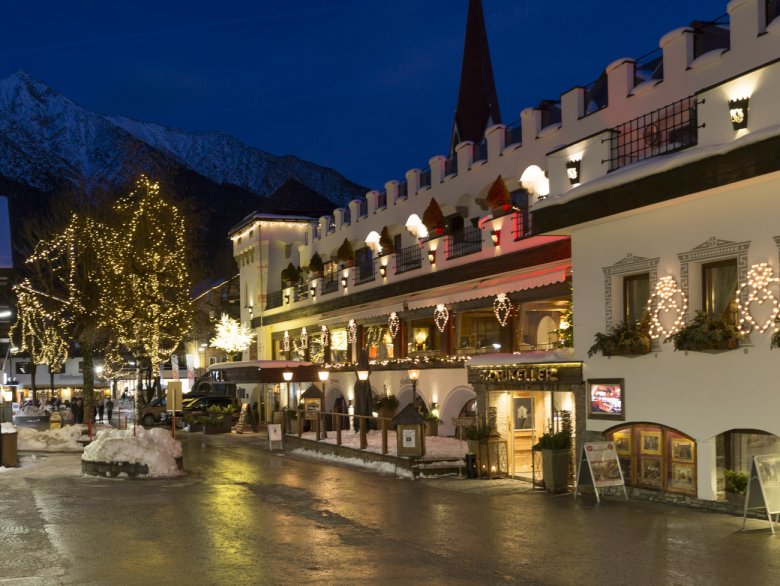
M 608 170 L 695 146 L 696 107 L 696 97 L 690 96 L 611 129 Z

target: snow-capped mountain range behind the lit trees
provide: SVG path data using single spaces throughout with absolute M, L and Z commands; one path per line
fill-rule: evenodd
M 261 197 L 288 179 L 337 206 L 366 191 L 333 169 L 271 155 L 224 133 L 90 112 L 22 71 L 0 81 L 0 176 L 44 192 L 68 183 L 89 191 L 179 166 Z

